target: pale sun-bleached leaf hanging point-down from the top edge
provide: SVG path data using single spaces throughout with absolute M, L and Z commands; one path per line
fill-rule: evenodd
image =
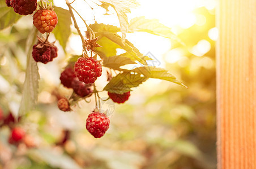
M 106 3 L 116 10 L 122 32 L 122 41 L 124 42 L 125 33 L 128 32 L 129 25 L 126 14 L 131 12 L 130 8 L 138 7 L 139 3 L 135 0 L 100 0 L 100 2 Z

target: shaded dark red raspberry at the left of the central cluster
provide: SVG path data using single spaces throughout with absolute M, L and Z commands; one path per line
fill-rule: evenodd
M 63 84 L 63 86 L 67 87 L 67 88 L 71 88 L 71 83 L 73 81 L 73 79 L 75 78 L 75 74 L 74 74 L 74 69 L 68 67 L 66 68 L 62 73 L 61 73 L 61 77 L 59 77 L 59 79 L 61 79 L 61 83 Z

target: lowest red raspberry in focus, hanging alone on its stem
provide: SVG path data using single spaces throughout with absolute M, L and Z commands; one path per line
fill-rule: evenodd
M 104 113 L 92 112 L 86 120 L 86 129 L 95 138 L 102 137 L 109 128 L 109 118 Z

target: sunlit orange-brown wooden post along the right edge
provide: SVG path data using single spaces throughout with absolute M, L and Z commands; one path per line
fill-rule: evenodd
M 256 0 L 219 0 L 217 167 L 256 168 Z

